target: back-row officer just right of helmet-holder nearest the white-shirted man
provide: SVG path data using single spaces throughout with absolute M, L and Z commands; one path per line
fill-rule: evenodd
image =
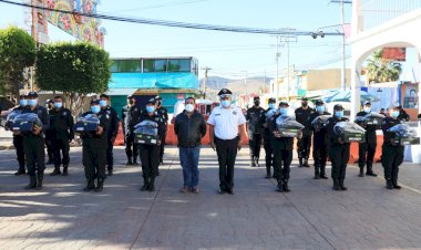
M 308 157 L 310 156 L 311 147 L 311 122 L 310 116 L 315 111 L 308 106 L 308 98 L 301 98 L 301 107 L 296 110 L 296 119 L 298 123 L 302 124 L 305 128 L 302 129 L 302 138 L 297 140 L 298 160 L 299 167 L 310 167 L 308 165 Z M 304 162 L 302 162 L 304 160 Z

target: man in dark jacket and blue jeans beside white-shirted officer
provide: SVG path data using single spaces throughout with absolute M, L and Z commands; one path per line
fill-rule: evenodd
M 202 138 L 206 135 L 206 121 L 195 110 L 194 97 L 185 100 L 185 110 L 175 117 L 174 132 L 177 135 L 179 160 L 183 167 L 183 194 L 198 194 L 198 158 Z

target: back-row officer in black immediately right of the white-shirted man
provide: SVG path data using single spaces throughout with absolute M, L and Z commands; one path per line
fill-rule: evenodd
M 261 114 L 265 112 L 260 107 L 260 97 L 254 97 L 255 105 L 247 110 L 246 119 L 248 123 L 248 146 L 250 147 L 250 166 L 258 167 L 260 158 L 261 146 L 261 131 L 263 124 L 260 123 Z

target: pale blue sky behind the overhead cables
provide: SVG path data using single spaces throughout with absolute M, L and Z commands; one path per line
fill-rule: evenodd
M 20 1 L 20 0 L 14 0 Z M 340 6 L 330 0 L 102 0 L 99 13 L 205 24 L 316 31 L 340 24 Z M 351 6 L 346 6 L 350 22 Z M 0 29 L 24 28 L 21 7 L 0 3 Z M 195 56 L 209 75 L 242 79 L 276 75 L 276 38 L 102 21 L 105 50 L 112 58 Z M 324 29 L 336 32 L 340 27 Z M 50 41 L 74 41 L 49 25 Z M 340 67 L 341 37 L 298 37 L 290 42 L 289 62 L 297 70 Z M 287 46 L 280 45 L 279 72 L 287 66 Z M 347 55 L 350 55 L 347 45 Z M 348 60 L 349 65 L 349 60 Z M 203 71 L 201 71 L 203 76 Z

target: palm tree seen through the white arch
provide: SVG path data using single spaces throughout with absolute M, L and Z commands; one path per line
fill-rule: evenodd
M 402 65 L 393 61 L 382 59 L 383 50 L 376 51 L 368 60 L 368 82 L 386 83 L 399 80 Z

